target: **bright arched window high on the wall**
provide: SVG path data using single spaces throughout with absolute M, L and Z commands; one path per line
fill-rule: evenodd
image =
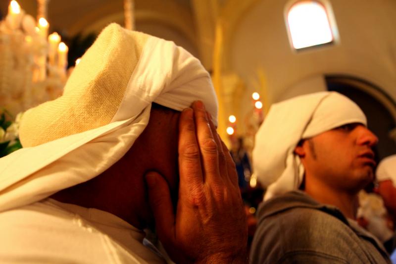
M 334 41 L 329 10 L 320 1 L 300 0 L 294 3 L 287 12 L 287 24 L 296 50 Z

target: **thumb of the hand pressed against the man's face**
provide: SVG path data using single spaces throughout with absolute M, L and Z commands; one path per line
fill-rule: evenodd
M 146 174 L 148 202 L 155 218 L 155 229 L 162 244 L 172 243 L 175 239 L 175 215 L 169 187 L 165 179 L 157 172 Z

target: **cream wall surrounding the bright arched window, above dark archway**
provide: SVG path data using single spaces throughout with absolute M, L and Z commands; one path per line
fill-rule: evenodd
M 244 102 L 250 102 L 249 96 L 255 90 L 258 67 L 265 71 L 273 102 L 288 94 L 315 91 L 315 87 L 303 91 L 298 83 L 322 74 L 364 79 L 396 101 L 396 1 L 329 2 L 340 43 L 301 52 L 295 52 L 289 43 L 284 17 L 288 0 L 257 1 L 243 16 L 232 38 L 230 54 L 225 55 L 230 58 L 231 70 L 247 84 Z M 300 91 L 290 91 L 292 87 L 299 87 Z

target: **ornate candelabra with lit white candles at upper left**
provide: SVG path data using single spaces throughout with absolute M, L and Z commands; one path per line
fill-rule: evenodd
M 66 82 L 67 47 L 48 37 L 47 0 L 38 1 L 38 21 L 15 0 L 0 21 L 0 107 L 13 115 L 60 96 Z

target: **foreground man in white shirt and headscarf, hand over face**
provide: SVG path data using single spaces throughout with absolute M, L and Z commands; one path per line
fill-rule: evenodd
M 193 102 L 193 109 L 188 108 Z M 74 69 L 63 95 L 24 114 L 24 148 L 0 159 L 0 262 L 164 263 L 161 253 L 144 242 L 142 231 L 153 221 L 148 196 L 154 206 L 158 199 L 147 191 L 161 184 L 183 201 L 179 215 L 197 210 L 216 215 L 202 216 L 212 225 L 244 215 L 240 194 L 232 189 L 236 173 L 227 170 L 230 158 L 216 158 L 225 151 L 216 118 L 210 76 L 198 59 L 173 42 L 109 25 Z M 206 149 L 213 144 L 208 140 L 216 146 L 209 158 Z M 199 169 L 186 170 L 192 167 L 189 162 Z M 217 170 L 204 173 L 212 167 Z M 148 171 L 163 177 L 148 173 L 147 187 Z M 212 184 L 193 192 L 202 174 Z M 191 177 L 198 177 L 194 186 L 186 180 Z M 227 181 L 211 181 L 221 177 Z M 227 197 L 218 193 L 224 199 L 213 199 L 211 188 L 231 191 Z M 213 211 L 202 207 L 207 201 L 235 208 Z M 210 227 L 203 229 L 207 225 L 193 230 L 181 220 L 172 221 L 176 238 L 163 241 L 173 260 L 234 261 L 243 255 L 240 242 L 215 248 L 195 241 L 199 252 L 177 252 L 176 246 L 191 244 L 179 239 L 186 230 L 193 240 L 197 233 L 214 237 Z M 159 235 L 169 232 L 156 228 Z M 244 241 L 243 220 L 237 230 Z

